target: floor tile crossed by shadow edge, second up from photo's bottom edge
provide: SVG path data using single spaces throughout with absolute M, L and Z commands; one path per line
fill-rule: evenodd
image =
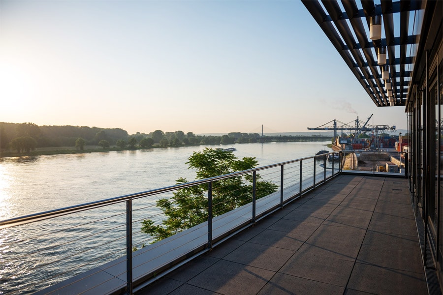
M 226 255 L 223 260 L 277 271 L 293 253 L 292 250 L 246 242 Z

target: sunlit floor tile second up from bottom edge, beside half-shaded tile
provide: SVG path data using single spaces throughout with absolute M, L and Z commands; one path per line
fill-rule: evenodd
M 353 265 L 353 261 L 297 252 L 279 272 L 346 287 Z

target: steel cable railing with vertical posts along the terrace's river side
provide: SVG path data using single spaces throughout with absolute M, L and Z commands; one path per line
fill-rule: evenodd
M 53 284 L 64 280 L 68 274 L 76 275 L 98 264 L 119 266 L 121 261 L 115 264 L 113 261 L 122 256 L 127 258 L 126 267 L 119 270 L 119 273 L 127 274 L 126 288 L 132 290 L 133 267 L 152 264 L 161 255 L 178 252 L 183 246 L 181 241 L 195 247 L 211 248 L 214 241 L 229 235 L 233 230 L 253 224 L 263 214 L 282 207 L 291 198 L 338 175 L 341 169 L 345 169 L 346 159 L 342 156 L 344 153 L 346 152 L 307 157 L 0 221 L 0 235 L 3 237 L 3 244 L 0 242 L 3 252 L 0 259 L 6 262 L 6 276 L 3 275 L 0 279 L 6 289 L 1 292 L 13 294 L 35 291 L 46 285 L 35 285 L 35 289 L 17 288 L 21 288 L 19 286 L 24 281 L 35 283 L 44 281 L 42 278 L 50 278 L 49 283 Z M 339 154 L 339 157 L 334 157 L 335 154 Z M 329 155 L 330 160 L 326 158 Z M 265 193 L 259 181 L 274 185 L 277 191 Z M 201 194 L 195 200 L 185 200 L 177 194 L 180 190 L 194 188 L 198 188 L 196 191 Z M 150 219 L 154 225 L 161 226 L 167 218 L 164 211 L 157 206 L 157 200 L 160 199 L 157 195 L 168 200 L 171 207 L 183 206 L 182 209 L 191 213 L 198 211 L 199 215 L 180 223 L 181 230 L 184 230 L 180 235 L 167 238 L 166 234 L 147 235 L 141 230 L 142 221 Z M 204 208 L 201 208 L 202 204 Z M 85 210 L 96 210 L 95 217 L 85 218 L 82 214 Z M 233 229 L 224 233 L 226 224 L 230 224 Z M 161 242 L 152 243 L 157 239 Z M 177 245 L 161 252 L 167 242 Z M 155 250 L 162 254 L 141 261 L 139 258 L 145 252 L 136 251 L 132 254 L 132 250 L 142 245 L 146 245 L 149 248 L 146 251 L 151 251 L 150 253 Z M 62 255 L 59 252 L 63 252 Z M 41 257 L 45 257 L 45 261 L 41 261 Z M 17 262 L 11 262 L 14 259 L 18 259 Z M 133 259 L 137 260 L 136 265 L 133 265 Z M 163 264 L 173 263 L 177 259 L 168 258 Z M 22 266 L 29 262 L 33 267 L 24 270 Z M 65 271 L 60 271 L 61 267 L 58 265 L 63 266 Z M 15 275 L 14 278 L 12 274 Z M 17 284 L 14 284 L 14 280 L 17 280 Z

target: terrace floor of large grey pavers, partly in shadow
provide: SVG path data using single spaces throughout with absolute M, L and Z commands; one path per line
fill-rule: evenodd
M 342 175 L 139 294 L 427 294 L 405 179 Z

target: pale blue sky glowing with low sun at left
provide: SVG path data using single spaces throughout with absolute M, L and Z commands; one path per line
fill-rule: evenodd
M 3 122 L 300 132 L 371 114 L 407 129 L 300 1 L 0 0 Z

